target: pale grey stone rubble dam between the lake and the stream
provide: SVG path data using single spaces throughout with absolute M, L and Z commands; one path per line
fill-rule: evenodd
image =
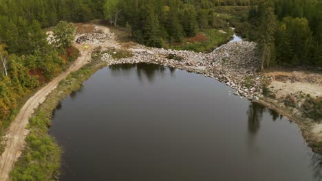
M 255 48 L 256 43 L 247 41 L 227 43 L 211 53 L 148 48 L 137 45 L 135 49 L 132 49 L 133 57 L 131 58 L 116 60 L 105 53 L 102 60 L 107 62 L 108 65 L 145 62 L 200 73 L 234 88 L 236 90 L 235 95 L 258 100 L 262 93 L 262 82 L 266 77 L 256 73 L 259 60 L 255 55 Z M 140 51 L 135 51 L 136 49 L 140 49 Z M 168 59 L 169 54 L 174 54 L 182 60 Z M 248 79 L 252 77 L 251 83 L 245 82 L 246 77 Z M 251 84 L 250 87 L 249 84 Z

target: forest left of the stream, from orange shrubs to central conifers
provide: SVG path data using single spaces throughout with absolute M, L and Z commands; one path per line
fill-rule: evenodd
M 44 28 L 60 21 L 111 19 L 138 42 L 161 47 L 213 27 L 217 5 L 249 0 L 2 0 L 0 1 L 0 132 L 22 100 L 63 71 L 77 56 L 69 46 L 53 47 Z M 119 19 L 119 22 L 116 20 Z

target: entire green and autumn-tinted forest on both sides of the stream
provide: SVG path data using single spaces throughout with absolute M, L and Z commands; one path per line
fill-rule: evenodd
M 244 14 L 226 19 L 234 7 Z M 93 19 L 126 29 L 133 40 L 151 47 L 182 43 L 209 29 L 229 29 L 229 22 L 244 38 L 257 41 L 261 69 L 322 66 L 321 1 L 2 0 L 0 132 L 8 127 L 23 100 L 78 56 L 70 45 L 48 43 L 44 29 L 61 21 Z

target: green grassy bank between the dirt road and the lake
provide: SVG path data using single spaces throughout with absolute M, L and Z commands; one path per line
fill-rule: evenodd
M 105 67 L 99 56 L 82 69 L 71 73 L 35 110 L 30 118 L 25 149 L 12 169 L 11 180 L 57 180 L 61 167 L 61 148 L 47 132 L 51 125 L 52 112 L 61 99 L 78 90 L 82 82 L 98 69 Z

